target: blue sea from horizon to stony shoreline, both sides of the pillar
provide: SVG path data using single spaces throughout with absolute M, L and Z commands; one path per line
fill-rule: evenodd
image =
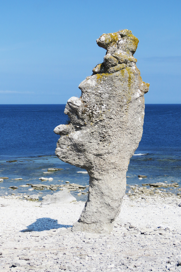
M 64 163 L 55 156 L 59 135 L 53 129 L 68 122 L 64 109 L 64 104 L 0 106 L 0 176 L 9 178 L 0 183 L 0 195 L 36 194 L 36 190 L 28 191 L 30 186 L 16 190 L 8 187 L 39 184 L 42 183 L 40 177 L 52 177 L 51 184 L 69 181 L 88 185 L 88 174 L 77 173 L 82 169 Z M 16 162 L 9 162 L 12 160 Z M 44 174 L 50 167 L 63 170 Z M 147 178 L 139 180 L 138 175 L 146 175 Z M 180 179 L 181 104 L 146 104 L 143 135 L 130 159 L 127 184 L 141 186 L 141 183 L 176 181 L 181 186 Z M 50 182 L 43 181 L 43 184 Z M 176 188 L 172 192 L 177 193 Z M 52 193 L 44 189 L 41 196 Z M 77 193 L 72 191 L 77 200 L 86 200 L 86 195 L 79 197 Z

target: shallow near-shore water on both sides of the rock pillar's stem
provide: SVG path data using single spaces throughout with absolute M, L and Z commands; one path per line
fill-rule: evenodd
M 131 158 L 126 177 L 128 185 L 126 187 L 126 192 L 128 192 L 129 190 L 129 185 L 137 184 L 138 186 L 141 186 L 142 183 L 154 183 L 164 181 L 167 181 L 167 183 L 171 183 L 171 181 L 177 181 L 181 186 L 179 175 L 177 174 L 178 172 L 172 171 L 172 167 L 169 167 L 170 164 L 175 164 L 176 161 L 170 158 L 161 159 L 160 156 L 158 156 L 158 158 L 155 158 L 154 156 L 153 159 L 153 156 L 151 155 L 152 154 L 138 155 Z M 150 160 L 151 158 L 152 160 Z M 0 161 L 0 176 L 9 178 L 4 180 L 3 182 L 0 182 L 0 195 L 11 195 L 11 193 L 15 193 L 15 195 L 21 194 L 23 196 L 24 193 L 31 195 L 39 194 L 39 192 L 41 192 L 39 200 L 42 200 L 42 196 L 45 196 L 47 194 L 53 194 L 55 193 L 55 191 L 52 191 L 50 189 L 29 191 L 28 189 L 31 188 L 31 185 L 28 187 L 19 186 L 26 185 L 27 183 L 45 185 L 66 184 L 65 181 L 84 186 L 89 184 L 88 174 L 77 173 L 78 171 L 82 171 L 83 169 L 62 162 L 54 155 L 19 158 L 14 157 L 13 159 L 17 160 L 17 162 L 9 163 L 6 160 Z M 43 172 L 47 172 L 47 169 L 50 167 L 63 168 L 63 170 L 51 171 L 49 174 L 44 174 Z M 158 171 L 158 168 L 160 168 L 160 172 Z M 174 173 L 176 175 L 174 175 Z M 144 174 L 148 177 L 139 180 L 139 174 Z M 39 178 L 41 177 L 51 177 L 53 178 L 53 180 L 42 181 L 39 180 Z M 23 180 L 15 180 L 15 178 L 23 178 Z M 18 189 L 9 189 L 10 186 L 17 186 Z M 87 190 L 88 189 L 86 188 L 84 191 L 87 192 Z M 171 192 L 169 188 L 166 188 L 166 191 Z M 173 188 L 172 193 L 177 192 L 177 188 Z M 77 196 L 78 193 L 78 191 L 71 191 L 71 194 L 75 196 L 78 201 L 87 200 L 87 195 Z

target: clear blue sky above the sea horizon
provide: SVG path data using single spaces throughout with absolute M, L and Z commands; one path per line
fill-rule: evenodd
M 181 103 L 180 1 L 0 2 L 0 104 L 65 104 L 103 61 L 96 39 L 129 29 L 145 103 Z

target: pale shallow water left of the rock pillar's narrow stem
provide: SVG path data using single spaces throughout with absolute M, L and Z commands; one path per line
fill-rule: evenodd
M 39 194 L 41 192 L 39 200 L 42 200 L 42 196 L 46 194 L 53 194 L 56 191 L 52 191 L 50 189 L 43 190 L 33 190 L 29 191 L 31 185 L 28 187 L 19 187 L 20 185 L 29 184 L 66 184 L 65 181 L 69 181 L 70 183 L 76 183 L 80 185 L 88 185 L 89 184 L 89 175 L 77 173 L 78 171 L 82 171 L 76 166 L 69 165 L 68 163 L 62 162 L 55 156 L 37 156 L 37 157 L 14 157 L 14 160 L 17 162 L 7 162 L 6 160 L 0 161 L 1 166 L 1 177 L 8 177 L 9 179 L 0 182 L 0 195 L 8 195 L 11 193 L 17 194 Z M 49 174 L 44 174 L 43 172 L 47 172 L 48 168 L 63 168 L 58 171 L 51 171 Z M 53 178 L 52 181 L 42 181 L 39 178 Z M 23 178 L 23 180 L 15 180 L 15 178 Z M 10 186 L 17 186 L 18 189 L 9 189 Z M 4 188 L 3 188 L 4 187 Z M 84 191 L 87 192 L 88 189 Z M 74 195 L 78 201 L 87 200 L 87 195 L 82 195 L 81 197 L 77 196 L 78 191 L 71 191 L 72 195 Z

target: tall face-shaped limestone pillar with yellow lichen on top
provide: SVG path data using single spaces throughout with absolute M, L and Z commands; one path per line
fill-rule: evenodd
M 120 213 L 126 171 L 142 137 L 144 93 L 133 54 L 138 39 L 130 30 L 103 34 L 97 44 L 107 50 L 104 62 L 81 82 L 80 98 L 71 97 L 64 113 L 69 125 L 59 125 L 56 155 L 87 170 L 88 200 L 73 231 L 110 232 Z

